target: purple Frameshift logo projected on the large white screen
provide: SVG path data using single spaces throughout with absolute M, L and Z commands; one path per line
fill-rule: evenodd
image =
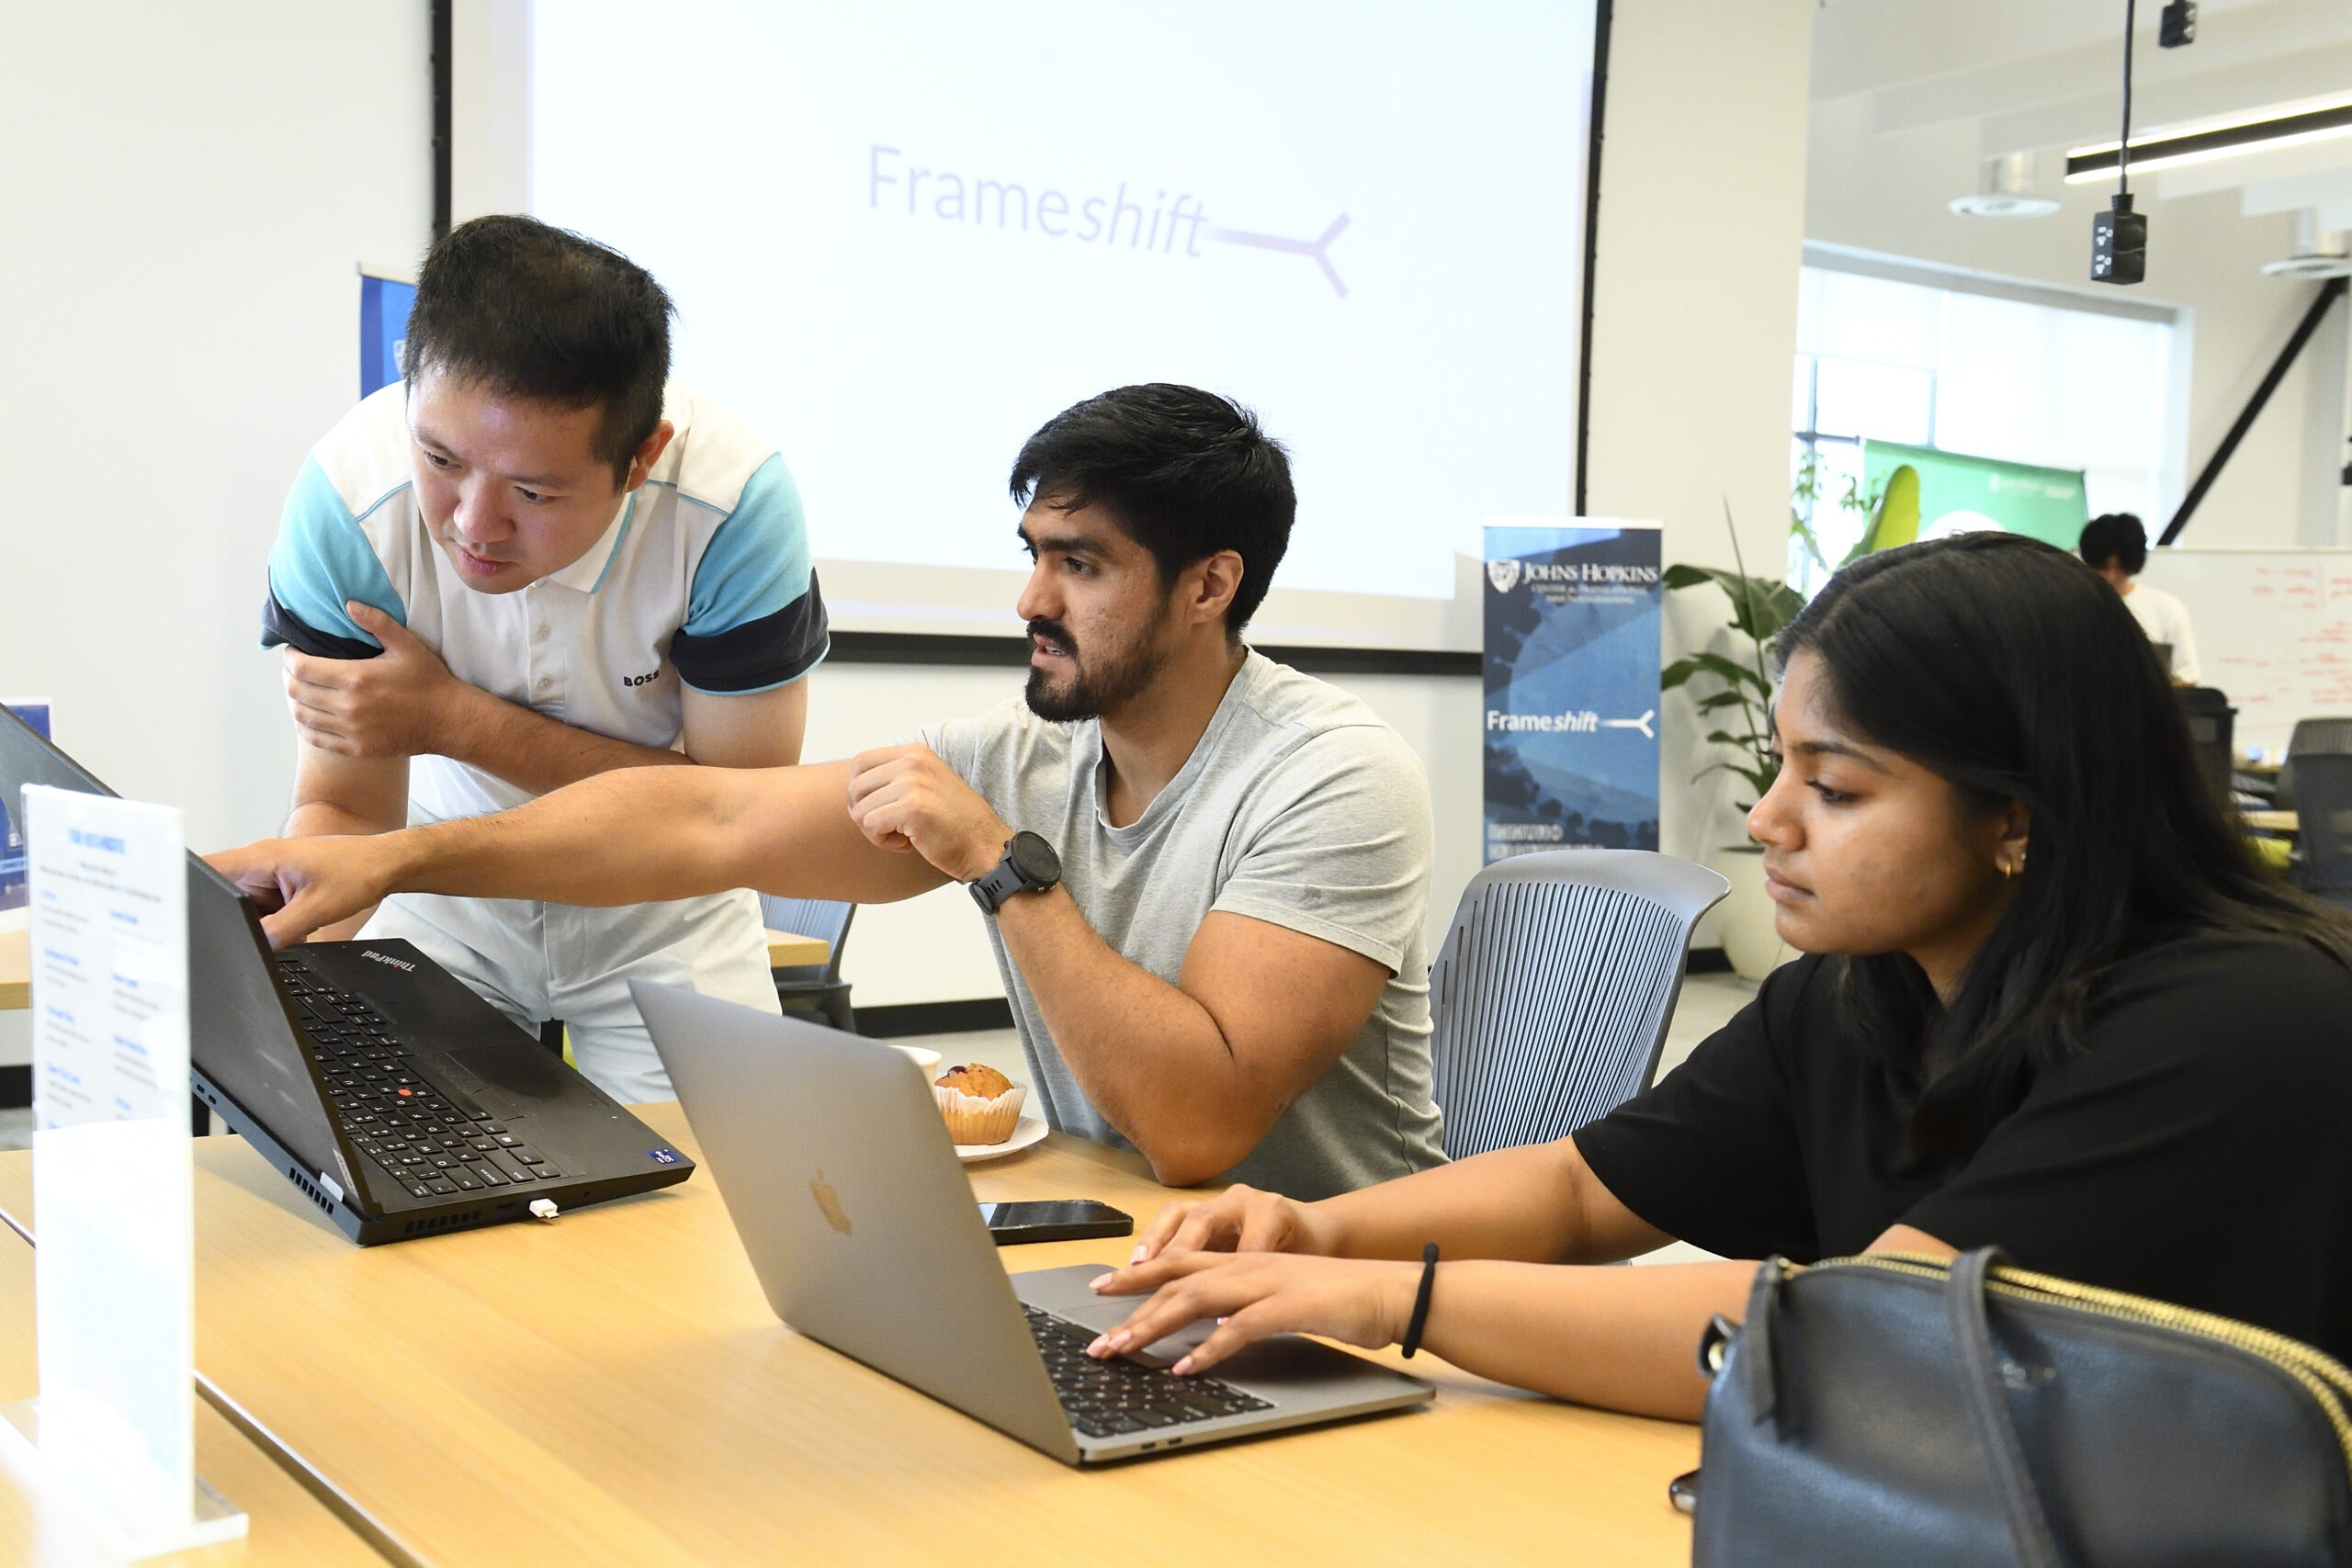
M 1183 256 L 1185 261 L 1197 261 L 1204 254 L 1202 242 L 1305 256 L 1322 268 L 1331 292 L 1348 299 L 1348 284 L 1331 266 L 1331 242 L 1348 228 L 1345 212 L 1312 240 L 1261 235 L 1247 228 L 1209 226 L 1209 212 L 1192 193 L 1169 202 L 1167 190 L 1155 190 L 1145 205 L 1141 193 L 1129 200 L 1127 181 L 1120 181 L 1110 195 L 1073 195 L 1054 186 L 1040 186 L 1033 195 L 1021 181 L 922 167 L 898 148 L 880 143 L 866 148 L 866 205 L 875 212 L 903 212 L 910 219 L 993 226 L 1044 240 Z

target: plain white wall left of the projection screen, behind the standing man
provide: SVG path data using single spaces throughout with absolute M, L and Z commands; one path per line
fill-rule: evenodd
M 428 45 L 416 0 L 7 12 L 0 696 L 54 698 L 59 741 L 195 846 L 285 816 L 263 567 L 358 397 L 355 266 L 430 237 Z

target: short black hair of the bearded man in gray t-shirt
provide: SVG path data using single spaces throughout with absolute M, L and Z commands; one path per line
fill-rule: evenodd
M 1225 609 L 1240 637 L 1291 543 L 1298 496 L 1282 442 L 1242 404 L 1190 386 L 1122 386 L 1044 421 L 1014 458 L 1014 501 L 1101 505 L 1152 552 L 1162 588 L 1218 550 L 1242 557 Z

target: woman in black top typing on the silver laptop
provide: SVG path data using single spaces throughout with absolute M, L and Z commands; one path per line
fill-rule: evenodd
M 1799 1262 L 2018 1262 L 2352 1356 L 2352 924 L 2260 872 L 2147 637 L 2082 562 L 1971 534 L 1842 571 L 1780 637 L 1748 827 L 1806 954 L 1686 1065 L 1555 1145 L 1322 1204 L 1174 1204 L 1096 1342 L 1225 1319 L 1696 1418 L 1752 1262 L 1550 1267 L 1686 1239 Z

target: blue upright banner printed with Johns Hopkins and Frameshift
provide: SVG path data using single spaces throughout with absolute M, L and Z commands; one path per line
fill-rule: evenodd
M 1658 524 L 1486 529 L 1486 860 L 1658 849 Z

